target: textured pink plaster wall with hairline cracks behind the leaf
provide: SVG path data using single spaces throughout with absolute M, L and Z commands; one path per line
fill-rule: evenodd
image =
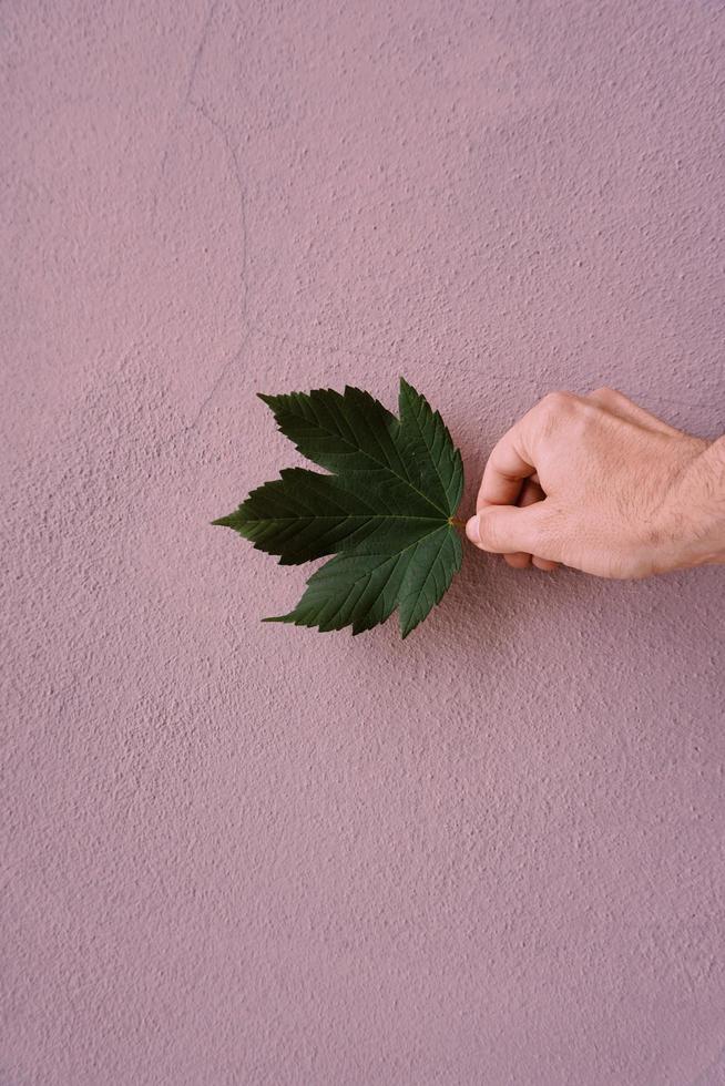
M 353 639 L 208 522 L 256 390 L 722 430 L 725 9 L 339 9 L 2 8 L 0 1080 L 723 1083 L 722 572 Z

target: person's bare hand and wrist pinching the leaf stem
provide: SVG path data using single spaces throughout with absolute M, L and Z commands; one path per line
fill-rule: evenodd
M 693 438 L 621 392 L 552 392 L 498 442 L 466 533 L 509 565 L 603 577 L 725 562 L 725 438 Z

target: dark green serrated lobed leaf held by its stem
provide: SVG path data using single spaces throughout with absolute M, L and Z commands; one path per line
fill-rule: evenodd
M 461 564 L 453 514 L 463 467 L 440 414 L 402 378 L 399 419 L 357 388 L 261 399 L 297 450 L 331 474 L 284 469 L 214 523 L 285 565 L 335 555 L 294 611 L 265 621 L 359 634 L 397 607 L 407 637 Z

